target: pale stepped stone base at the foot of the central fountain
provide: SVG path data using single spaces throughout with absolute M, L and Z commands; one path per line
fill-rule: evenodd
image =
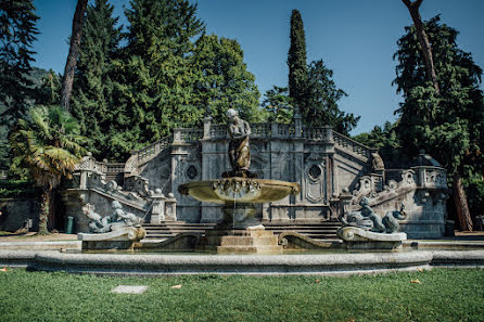
M 209 231 L 202 247 L 205 250 L 217 250 L 220 254 L 282 253 L 282 246 L 278 244 L 278 237 L 273 232 L 264 230 L 262 226 L 257 229 Z

